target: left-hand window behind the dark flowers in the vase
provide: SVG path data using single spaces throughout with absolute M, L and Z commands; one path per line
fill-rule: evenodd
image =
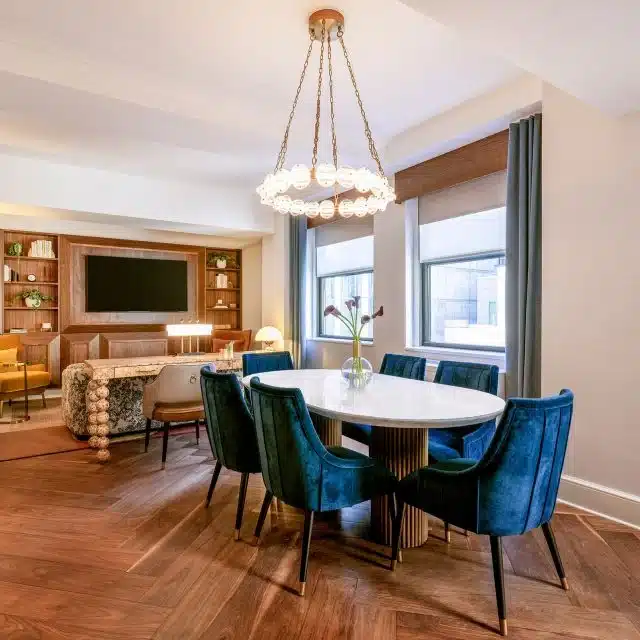
M 330 239 L 335 240 L 336 230 L 330 231 L 334 234 Z M 340 237 L 337 236 L 338 239 Z M 320 240 L 322 242 L 323 238 Z M 317 335 L 322 338 L 349 339 L 349 331 L 344 324 L 333 316 L 325 318 L 324 310 L 333 304 L 342 313 L 348 313 L 345 302 L 360 296 L 361 313 L 373 313 L 373 236 L 317 246 L 316 278 Z M 363 340 L 373 339 L 373 323 L 365 326 L 361 337 Z

